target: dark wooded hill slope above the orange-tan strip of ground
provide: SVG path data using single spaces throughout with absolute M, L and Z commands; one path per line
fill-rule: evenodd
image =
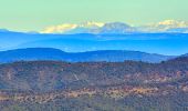
M 118 83 L 168 82 L 188 74 L 188 58 L 161 63 L 54 61 L 15 62 L 0 65 L 0 89 L 53 91 L 64 88 Z

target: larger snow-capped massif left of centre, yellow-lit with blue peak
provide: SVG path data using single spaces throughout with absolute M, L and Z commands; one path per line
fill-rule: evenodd
M 61 24 L 45 28 L 42 33 L 129 33 L 135 28 L 122 22 L 85 22 L 81 24 Z

